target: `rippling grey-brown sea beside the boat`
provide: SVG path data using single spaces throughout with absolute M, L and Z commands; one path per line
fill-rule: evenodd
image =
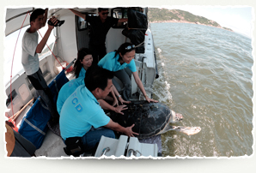
M 163 157 L 252 155 L 252 39 L 196 24 L 150 26 L 160 75 L 154 98 L 184 116 L 174 125 L 202 128 L 162 134 Z

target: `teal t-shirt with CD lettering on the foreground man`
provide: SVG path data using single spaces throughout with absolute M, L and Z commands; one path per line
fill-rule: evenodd
M 64 102 L 59 117 L 60 134 L 64 140 L 82 137 L 92 126 L 99 128 L 109 121 L 92 92 L 82 85 Z

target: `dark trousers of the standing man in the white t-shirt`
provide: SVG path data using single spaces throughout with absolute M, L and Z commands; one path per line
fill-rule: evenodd
M 46 80 L 43 77 L 41 69 L 39 69 L 33 75 L 27 75 L 27 78 L 33 85 L 34 89 L 36 90 L 37 94 L 43 99 L 46 103 L 48 110 L 51 112 L 52 117 L 58 117 L 57 106 L 53 101 L 52 92 L 50 88 L 46 84 Z

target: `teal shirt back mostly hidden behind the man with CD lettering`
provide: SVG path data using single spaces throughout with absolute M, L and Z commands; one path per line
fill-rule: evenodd
M 76 88 L 81 85 L 84 86 L 84 78 L 78 77 L 74 80 L 71 80 L 65 83 L 64 86 L 61 87 L 60 91 L 58 92 L 58 99 L 57 99 L 57 110 L 59 115 L 66 99 L 69 98 L 71 93 L 75 92 Z

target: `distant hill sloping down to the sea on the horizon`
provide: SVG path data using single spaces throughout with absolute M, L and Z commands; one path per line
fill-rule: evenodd
M 205 17 L 199 15 L 193 15 L 187 11 L 180 9 L 157 9 L 149 8 L 148 12 L 149 22 L 158 23 L 158 22 L 180 22 L 180 23 L 194 23 L 198 25 L 205 25 L 210 27 L 218 27 L 233 31 L 230 28 L 222 27 L 216 21 L 211 21 Z

